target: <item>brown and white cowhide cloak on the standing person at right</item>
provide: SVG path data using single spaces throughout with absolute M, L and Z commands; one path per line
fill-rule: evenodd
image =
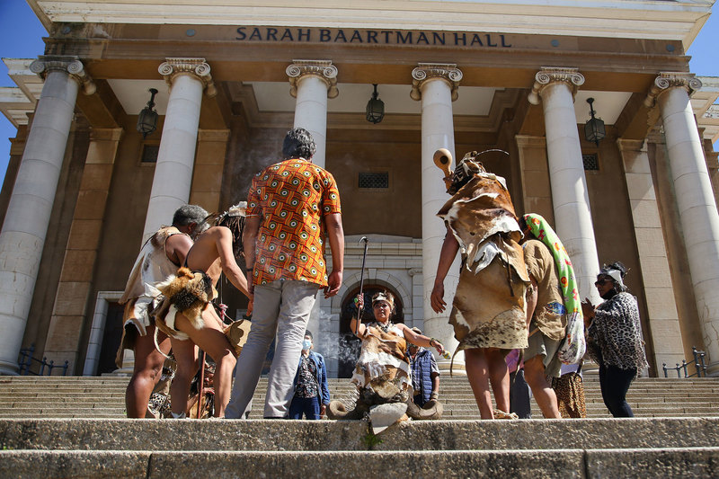
M 529 284 L 521 233 L 503 179 L 475 173 L 437 216 L 462 253 L 449 323 L 457 350 L 527 347 L 525 291 Z

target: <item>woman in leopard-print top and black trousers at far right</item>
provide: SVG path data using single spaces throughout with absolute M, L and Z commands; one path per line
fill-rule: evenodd
M 602 267 L 594 285 L 604 302 L 581 303 L 587 329 L 587 354 L 599 364 L 604 404 L 614 417 L 634 417 L 626 392 L 637 373 L 648 368 L 636 298 L 624 284 L 626 267 L 613 262 Z

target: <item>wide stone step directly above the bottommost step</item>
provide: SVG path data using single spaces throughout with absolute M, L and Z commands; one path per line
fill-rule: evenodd
M 12 450 L 366 450 L 367 434 L 367 421 L 0 420 Z M 719 418 L 403 421 L 378 439 L 377 450 L 690 448 L 719 444 Z

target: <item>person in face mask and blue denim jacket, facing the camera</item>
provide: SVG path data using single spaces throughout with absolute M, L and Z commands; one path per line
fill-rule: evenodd
M 330 404 L 327 368 L 322 354 L 312 350 L 312 333 L 305 331 L 302 354 L 295 374 L 295 395 L 289 404 L 289 419 L 321 419 Z

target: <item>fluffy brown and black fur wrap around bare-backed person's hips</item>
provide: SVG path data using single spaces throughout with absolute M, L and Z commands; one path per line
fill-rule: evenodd
M 195 329 L 202 329 L 205 322 L 202 310 L 210 301 L 217 297 L 217 290 L 212 279 L 205 271 L 191 271 L 180 268 L 156 288 L 163 295 L 159 306 L 152 312 L 155 326 L 163 333 L 179 340 L 187 340 L 189 336 L 174 328 L 174 318 L 182 313 Z

